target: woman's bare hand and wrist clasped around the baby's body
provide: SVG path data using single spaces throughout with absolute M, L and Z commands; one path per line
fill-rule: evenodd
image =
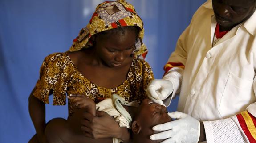
M 97 116 L 89 113 L 84 113 L 84 120 L 81 121 L 81 130 L 84 131 L 85 136 L 99 139 L 114 137 L 118 139 L 129 140 L 129 132 L 126 128 L 121 128 L 112 116 L 104 111 L 97 111 Z

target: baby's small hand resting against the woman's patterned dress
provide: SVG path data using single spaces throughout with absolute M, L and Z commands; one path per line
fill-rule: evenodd
M 74 108 L 87 108 L 89 106 L 95 106 L 95 102 L 91 98 L 88 98 L 82 94 L 69 94 L 68 98 L 74 100 L 74 102 L 72 102 L 70 105 Z

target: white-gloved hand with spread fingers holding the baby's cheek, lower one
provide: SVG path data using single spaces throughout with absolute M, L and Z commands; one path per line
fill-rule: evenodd
M 166 139 L 161 143 L 197 143 L 199 141 L 200 122 L 198 120 L 178 111 L 168 115 L 178 120 L 154 126 L 153 130 L 163 132 L 151 135 L 151 140 Z

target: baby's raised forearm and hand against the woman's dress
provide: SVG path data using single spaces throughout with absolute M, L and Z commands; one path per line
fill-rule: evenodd
M 82 94 L 70 94 L 68 98 L 71 100 L 71 107 L 84 108 L 86 112 L 96 116 L 96 106 L 92 99 Z

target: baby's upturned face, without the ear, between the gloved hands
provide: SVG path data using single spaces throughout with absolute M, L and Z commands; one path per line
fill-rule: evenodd
M 136 120 L 142 127 L 142 135 L 146 136 L 146 139 L 150 138 L 150 135 L 157 133 L 152 128 L 157 124 L 163 124 L 170 122 L 171 117 L 167 114 L 167 108 L 158 103 L 154 103 L 153 100 L 144 99 L 139 106 L 139 113 Z M 149 140 L 150 142 L 153 142 Z M 146 142 L 145 142 L 146 143 Z

